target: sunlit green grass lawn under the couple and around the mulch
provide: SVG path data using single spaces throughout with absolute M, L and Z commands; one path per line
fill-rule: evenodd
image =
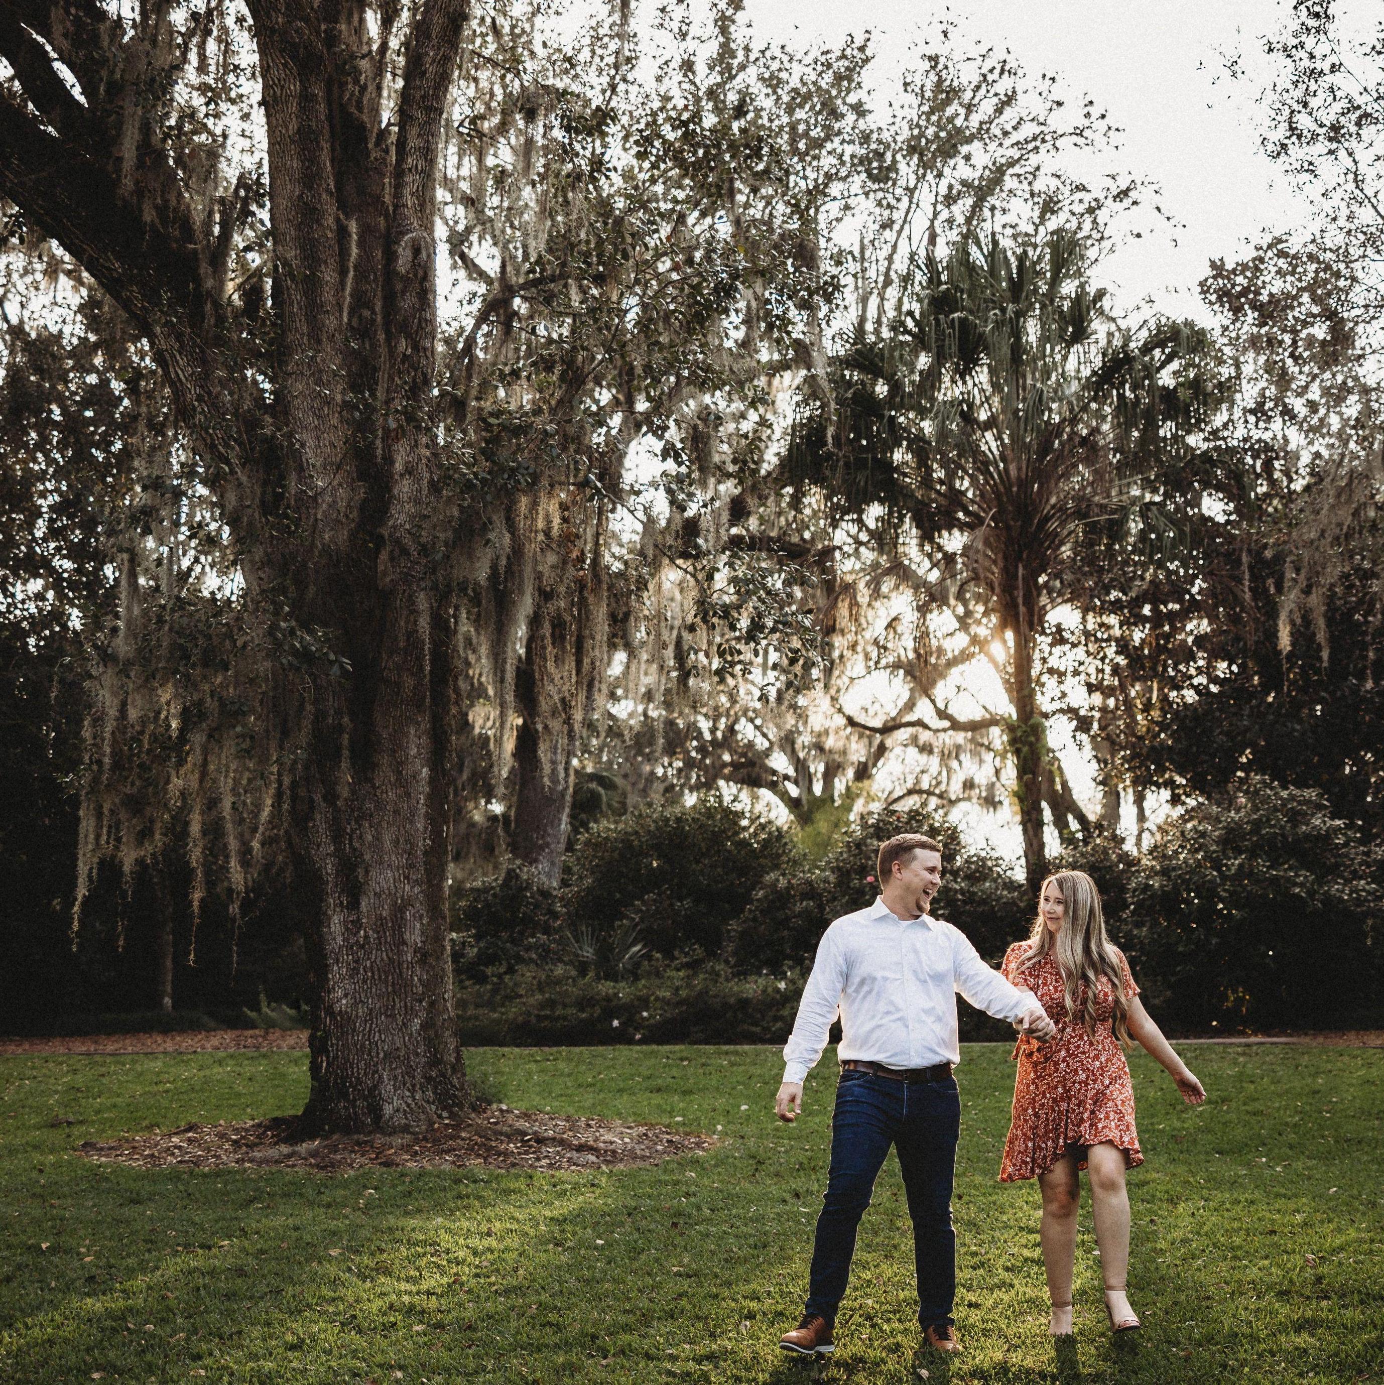
M 917 1385 L 919 1366 L 957 1382 L 1384 1378 L 1384 1053 L 1203 1047 L 1200 1111 L 1136 1060 L 1148 1162 L 1130 1176 L 1130 1292 L 1147 1325 L 1137 1341 L 1111 1339 L 1083 1230 L 1076 1346 L 1061 1359 L 1045 1332 L 1036 1190 L 995 1179 L 1013 1083 L 1004 1058 L 971 1047 L 960 1075 L 966 1356 L 950 1371 L 916 1356 L 891 1161 L 828 1378 Z M 471 1061 L 511 1105 L 719 1130 L 722 1143 L 597 1174 L 125 1169 L 73 1145 L 294 1111 L 305 1060 L 0 1060 L 0 1381 L 810 1378 L 774 1343 L 805 1289 L 827 1065 L 790 1129 L 769 1114 L 780 1065 L 768 1048 L 490 1050 Z

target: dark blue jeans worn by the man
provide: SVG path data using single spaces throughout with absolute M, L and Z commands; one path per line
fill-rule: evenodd
M 952 1321 L 956 1233 L 952 1172 L 961 1129 L 956 1079 L 895 1082 L 853 1069 L 841 1073 L 831 1116 L 831 1173 L 817 1217 L 808 1313 L 835 1321 L 855 1253 L 855 1233 L 892 1144 L 913 1219 L 919 1324 Z

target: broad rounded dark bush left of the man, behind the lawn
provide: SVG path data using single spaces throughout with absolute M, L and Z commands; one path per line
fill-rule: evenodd
M 655 956 L 715 957 L 765 877 L 795 857 L 786 828 L 719 799 L 650 803 L 578 838 L 562 913 L 574 936 L 610 938 L 633 921 Z

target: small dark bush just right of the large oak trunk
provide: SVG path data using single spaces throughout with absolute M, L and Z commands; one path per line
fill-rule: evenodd
M 485 983 L 525 963 L 557 954 L 557 891 L 520 861 L 452 896 L 452 964 L 459 978 Z

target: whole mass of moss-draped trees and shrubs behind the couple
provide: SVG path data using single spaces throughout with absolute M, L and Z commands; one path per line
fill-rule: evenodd
M 946 28 L 882 105 L 734 4 L 4 14 L 14 1026 L 292 1003 L 319 1120 L 425 1120 L 454 972 L 471 1040 L 694 961 L 777 1017 L 862 809 L 959 802 L 1022 825 L 1022 882 L 948 838 L 984 950 L 1094 861 L 1180 1022 L 1377 1008 L 1381 57 L 1330 6 L 1266 93 L 1323 223 L 1211 325 L 1097 287 L 1147 190 Z

